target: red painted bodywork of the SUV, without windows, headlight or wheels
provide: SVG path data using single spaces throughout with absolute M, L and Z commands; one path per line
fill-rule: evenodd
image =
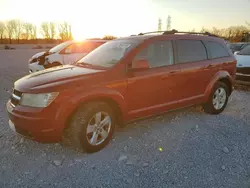
M 11 103 L 8 102 L 10 120 L 18 127 L 31 132 L 35 139 L 45 134 L 60 138 L 74 111 L 89 101 L 112 101 L 112 104 L 117 105 L 122 121 L 128 122 L 205 103 L 219 80 L 226 79 L 231 87 L 233 86 L 236 60 L 231 52 L 225 58 L 210 59 L 208 55 L 203 61 L 178 64 L 176 46 L 173 45 L 173 64 L 139 71 L 130 69 L 137 53 L 153 42 L 195 39 L 217 41 L 225 45 L 221 39 L 194 35 L 138 38 L 141 41 L 138 46 L 111 68 L 62 66 L 20 79 L 15 83 L 15 89 L 20 92 L 60 94 L 44 109 L 21 105 L 11 109 Z

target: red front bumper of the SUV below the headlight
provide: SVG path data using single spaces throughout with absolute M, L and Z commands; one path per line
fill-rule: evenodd
M 8 101 L 7 111 L 10 128 L 24 137 L 45 143 L 59 142 L 64 122 L 55 119 L 55 115 L 45 113 L 39 108 L 23 106 L 13 107 Z

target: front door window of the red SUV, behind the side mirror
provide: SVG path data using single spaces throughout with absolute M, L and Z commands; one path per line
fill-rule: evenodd
M 138 59 L 148 60 L 150 68 L 172 65 L 174 62 L 172 42 L 154 42 L 137 54 L 135 60 Z

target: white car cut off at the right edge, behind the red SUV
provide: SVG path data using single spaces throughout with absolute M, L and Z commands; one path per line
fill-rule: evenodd
M 235 53 L 237 59 L 236 83 L 250 85 L 250 45 Z

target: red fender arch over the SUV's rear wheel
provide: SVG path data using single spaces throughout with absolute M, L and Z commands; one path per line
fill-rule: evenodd
M 231 82 L 231 84 L 233 84 L 232 76 L 227 71 L 219 71 L 219 72 L 217 72 L 214 75 L 214 77 L 212 78 L 212 80 L 209 82 L 209 84 L 208 84 L 208 86 L 207 86 L 207 88 L 205 90 L 205 101 L 209 100 L 209 96 L 210 96 L 210 94 L 212 92 L 214 84 L 216 82 L 218 82 L 219 80 L 224 79 L 224 78 L 228 79 Z

